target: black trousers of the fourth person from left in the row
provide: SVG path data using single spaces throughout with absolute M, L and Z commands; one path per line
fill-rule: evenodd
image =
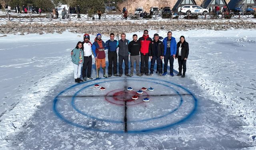
M 108 51 L 108 75 L 117 74 L 117 53 Z

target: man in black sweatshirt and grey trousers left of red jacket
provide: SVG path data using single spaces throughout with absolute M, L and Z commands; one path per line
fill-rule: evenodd
M 136 63 L 136 75 L 141 76 L 140 74 L 140 41 L 137 40 L 137 34 L 133 34 L 132 41 L 128 45 L 128 50 L 130 53 L 130 62 L 131 62 L 131 73 L 130 76 L 133 76 L 134 72 L 134 62 Z

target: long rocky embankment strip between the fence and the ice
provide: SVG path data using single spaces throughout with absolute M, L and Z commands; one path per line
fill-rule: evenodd
M 255 29 L 256 22 L 250 20 L 120 20 L 77 22 L 7 22 L 0 24 L 0 34 L 44 34 L 64 31 L 76 33 L 128 33 L 150 30 L 228 30 Z

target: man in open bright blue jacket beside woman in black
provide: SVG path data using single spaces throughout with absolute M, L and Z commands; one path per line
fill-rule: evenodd
M 163 76 L 167 75 L 167 67 L 168 61 L 170 62 L 170 75 L 174 76 L 173 74 L 173 62 L 175 58 L 175 54 L 177 51 L 177 42 L 174 37 L 172 37 L 172 32 L 167 33 L 167 37 L 163 40 L 164 44 L 164 73 Z

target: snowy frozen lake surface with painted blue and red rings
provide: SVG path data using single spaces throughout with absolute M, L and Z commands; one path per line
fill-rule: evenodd
M 126 38 L 133 34 L 142 31 Z M 186 78 L 155 73 L 75 84 L 70 51 L 82 35 L 0 37 L 1 150 L 256 149 L 256 30 L 174 31 L 190 46 Z

